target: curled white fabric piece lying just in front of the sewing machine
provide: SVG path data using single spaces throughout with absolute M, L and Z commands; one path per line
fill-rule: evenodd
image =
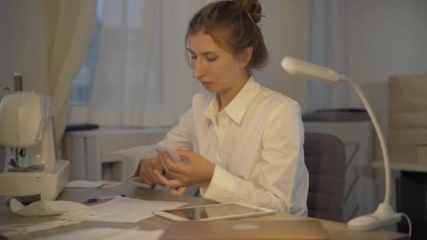
M 23 216 L 61 215 L 68 212 L 88 209 L 84 204 L 74 201 L 36 201 L 24 206 L 20 201 L 11 199 L 11 211 Z

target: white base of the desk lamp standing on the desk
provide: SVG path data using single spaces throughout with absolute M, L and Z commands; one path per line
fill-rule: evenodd
M 368 231 L 399 222 L 402 213 L 395 213 L 390 204 L 379 204 L 374 213 L 362 215 L 348 221 L 348 229 Z

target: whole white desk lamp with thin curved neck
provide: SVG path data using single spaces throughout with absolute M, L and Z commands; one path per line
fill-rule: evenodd
M 353 87 L 360 100 L 362 100 L 364 107 L 367 109 L 372 124 L 374 125 L 376 135 L 378 135 L 379 138 L 381 152 L 383 154 L 384 160 L 384 171 L 386 173 L 386 196 L 384 197 L 384 201 L 379 204 L 374 213 L 362 215 L 348 221 L 348 228 L 353 230 L 372 230 L 399 222 L 403 213 L 395 213 L 395 211 L 393 211 L 393 206 L 390 205 L 390 161 L 388 160 L 386 142 L 384 141 L 383 133 L 381 132 L 381 128 L 378 124 L 376 116 L 374 112 L 372 112 L 372 108 L 369 105 L 367 99 L 364 97 L 362 90 L 355 84 L 354 81 L 348 77 L 338 74 L 332 69 L 320 67 L 309 62 L 285 57 L 282 60 L 282 67 L 289 74 L 295 76 L 300 76 L 307 79 L 316 79 L 319 81 L 324 81 L 328 84 L 335 84 L 339 81 L 346 81 L 348 84 L 350 84 L 351 87 Z

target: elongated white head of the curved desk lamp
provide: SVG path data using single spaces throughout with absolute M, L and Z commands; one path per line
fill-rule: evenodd
M 320 67 L 310 62 L 297 60 L 295 58 L 284 57 L 282 67 L 289 74 L 300 76 L 307 79 L 315 79 L 334 84 L 343 79 L 343 76 L 337 74 L 332 69 Z

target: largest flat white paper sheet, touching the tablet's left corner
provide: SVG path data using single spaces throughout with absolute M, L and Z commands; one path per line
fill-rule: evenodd
M 104 222 L 139 222 L 150 218 L 153 211 L 178 208 L 187 203 L 176 201 L 145 201 L 116 196 L 105 204 L 91 206 L 91 210 L 99 215 L 96 221 Z

